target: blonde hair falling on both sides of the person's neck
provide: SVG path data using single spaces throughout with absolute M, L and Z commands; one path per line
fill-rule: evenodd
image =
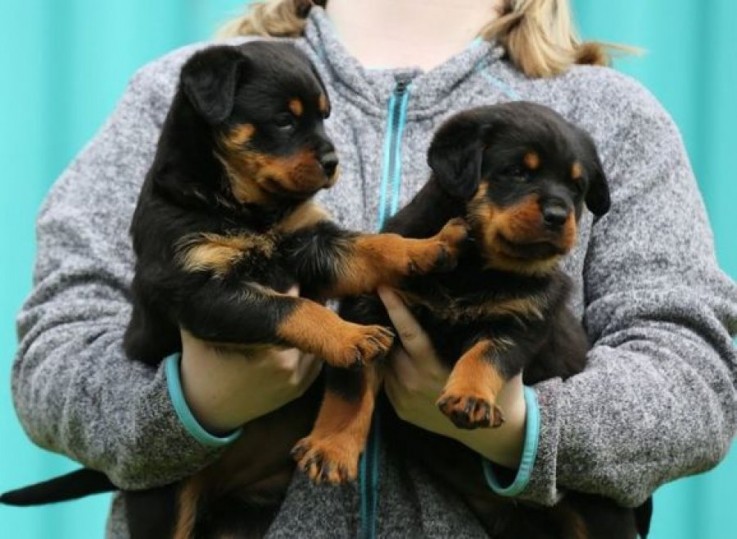
M 312 6 L 326 3 L 327 0 L 256 2 L 223 26 L 218 35 L 299 37 Z M 529 77 L 557 75 L 573 64 L 608 65 L 613 52 L 635 52 L 619 45 L 581 41 L 568 0 L 504 0 L 499 17 L 482 28 L 480 36 L 499 42 L 512 63 Z

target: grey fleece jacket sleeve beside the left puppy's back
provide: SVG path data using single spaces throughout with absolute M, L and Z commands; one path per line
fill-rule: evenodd
M 53 186 L 37 223 L 33 289 L 18 316 L 12 392 L 26 432 L 126 489 L 169 483 L 218 454 L 182 426 L 164 363 L 151 368 L 122 349 L 133 272 L 129 221 L 181 56 L 132 79 Z

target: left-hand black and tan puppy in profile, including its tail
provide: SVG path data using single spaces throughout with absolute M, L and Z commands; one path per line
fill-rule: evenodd
M 387 328 L 347 322 L 314 300 L 450 267 L 466 226 L 454 221 L 431 238 L 405 239 L 332 223 L 312 200 L 337 177 L 323 127 L 329 113 L 317 73 L 292 45 L 212 47 L 186 62 L 131 225 L 129 358 L 157 364 L 180 351 L 180 328 L 244 351 L 299 348 L 340 368 L 389 350 Z M 302 297 L 286 294 L 294 286 Z M 319 387 L 250 423 L 193 478 L 128 493 L 133 536 L 260 535 L 289 481 L 289 451 L 318 404 Z M 84 470 L 2 501 L 77 497 L 104 490 L 100 476 Z

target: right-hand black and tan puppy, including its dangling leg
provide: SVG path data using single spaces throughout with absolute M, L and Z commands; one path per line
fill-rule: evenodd
M 452 368 L 440 410 L 459 428 L 494 428 L 504 421 L 496 397 L 511 377 L 524 370 L 531 384 L 584 368 L 589 345 L 567 307 L 571 285 L 559 262 L 576 243 L 584 205 L 605 214 L 609 190 L 589 135 L 533 103 L 452 117 L 435 134 L 428 160 L 430 180 L 384 230 L 427 238 L 463 217 L 470 241 L 453 271 L 406 278 L 398 291 Z M 344 300 L 340 313 L 390 324 L 375 296 Z M 380 379 L 380 365 L 328 369 L 316 425 L 295 450 L 313 480 L 355 478 Z M 509 503 L 484 483 L 477 454 L 384 408 L 382 424 L 397 449 L 462 493 L 493 537 L 613 539 L 646 531 L 646 509 L 594 496 L 571 494 L 547 509 Z

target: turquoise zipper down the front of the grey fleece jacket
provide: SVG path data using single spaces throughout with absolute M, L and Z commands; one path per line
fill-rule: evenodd
M 402 135 L 407 122 L 409 80 L 399 80 L 389 98 L 386 136 L 384 138 L 384 165 L 379 198 L 379 226 L 397 212 L 402 185 Z M 390 187 L 391 186 L 391 187 Z M 391 194 L 389 193 L 391 189 Z M 389 202 L 387 200 L 390 199 Z M 376 537 L 376 508 L 379 502 L 379 415 L 374 413 L 366 450 L 360 463 L 361 529 L 360 539 Z

